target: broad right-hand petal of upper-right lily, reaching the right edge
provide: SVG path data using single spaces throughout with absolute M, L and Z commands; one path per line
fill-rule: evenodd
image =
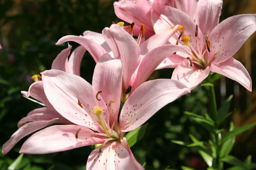
M 209 58 L 220 63 L 232 57 L 244 42 L 256 31 L 256 14 L 229 17 L 216 26 L 209 35 L 211 43 Z

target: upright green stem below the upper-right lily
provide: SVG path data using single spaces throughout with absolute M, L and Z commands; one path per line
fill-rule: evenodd
M 208 82 L 212 83 L 212 77 L 211 75 L 209 75 L 207 77 Z M 211 105 L 212 105 L 212 111 L 213 111 L 213 121 L 214 121 L 214 126 L 215 126 L 215 130 L 218 130 L 218 111 L 217 111 L 217 104 L 216 104 L 216 97 L 215 97 L 215 90 L 214 90 L 214 86 L 209 86 L 209 94 L 210 94 L 210 99 L 211 99 Z M 222 166 L 221 166 L 221 161 L 220 161 L 220 141 L 219 141 L 219 134 L 216 132 L 214 133 L 214 138 L 215 138 L 215 145 L 216 145 L 216 158 L 213 161 L 213 167 L 221 170 Z

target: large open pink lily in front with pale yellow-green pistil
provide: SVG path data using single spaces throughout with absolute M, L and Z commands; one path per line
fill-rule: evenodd
M 20 153 L 54 153 L 103 144 L 90 154 L 87 170 L 143 169 L 131 153 L 124 133 L 142 125 L 189 89 L 171 79 L 145 82 L 125 101 L 118 119 L 122 67 L 120 59 L 104 54 L 96 64 L 92 85 L 64 71 L 44 71 L 42 82 L 47 99 L 75 125 L 55 125 L 38 131 L 26 140 Z

